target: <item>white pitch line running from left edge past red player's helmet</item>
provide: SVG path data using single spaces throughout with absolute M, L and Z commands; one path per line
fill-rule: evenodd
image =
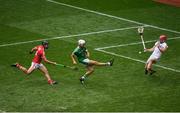
M 125 28 L 119 28 L 119 29 L 102 30 L 102 31 L 96 31 L 96 32 L 86 32 L 86 33 L 81 33 L 81 34 L 60 36 L 60 37 L 54 37 L 54 38 L 46 38 L 46 39 L 40 39 L 40 40 L 30 40 L 30 41 L 15 42 L 15 43 L 9 43 L 9 44 L 1 44 L 0 47 L 27 44 L 27 43 L 39 42 L 39 41 L 43 41 L 43 40 L 56 40 L 56 39 L 62 39 L 62 38 L 72 38 L 72 37 L 78 37 L 78 36 L 87 36 L 87 35 L 95 35 L 95 34 L 101 34 L 101 33 L 123 31 L 123 30 L 135 29 L 135 28 L 138 28 L 138 27 L 139 26 L 125 27 Z M 147 26 L 144 26 L 144 27 L 147 27 Z

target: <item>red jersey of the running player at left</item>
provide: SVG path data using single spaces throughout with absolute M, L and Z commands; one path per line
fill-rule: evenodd
M 37 50 L 33 58 L 33 62 L 40 64 L 45 57 L 44 47 L 42 45 L 36 46 Z

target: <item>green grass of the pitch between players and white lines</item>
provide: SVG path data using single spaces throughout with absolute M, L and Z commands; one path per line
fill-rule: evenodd
M 57 0 L 138 22 L 179 30 L 180 9 L 147 0 Z M 0 45 L 21 41 L 82 34 L 138 26 L 130 22 L 61 6 L 46 0 L 0 0 Z M 169 38 L 179 34 L 145 28 L 145 40 L 160 34 Z M 106 62 L 115 58 L 113 67 L 97 67 L 86 86 L 78 79 L 83 65 L 74 72 L 45 64 L 58 85 L 49 86 L 38 70 L 24 75 L 10 64 L 18 61 L 29 67 L 32 47 L 40 42 L 0 47 L 0 111 L 180 111 L 179 73 L 154 67 L 154 76 L 144 75 L 144 64 L 95 51 L 95 48 L 139 42 L 137 29 L 50 40 L 46 51 L 49 60 L 72 65 L 70 54 L 78 39 L 87 41 L 91 58 Z M 179 42 L 169 40 L 169 49 L 159 65 L 180 69 Z M 151 47 L 154 43 L 148 43 Z M 119 55 L 145 61 L 150 53 L 138 54 L 142 45 L 105 49 Z

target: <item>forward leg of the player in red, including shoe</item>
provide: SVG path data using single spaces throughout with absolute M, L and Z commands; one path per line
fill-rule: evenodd
M 48 72 L 47 68 L 46 68 L 44 65 L 41 65 L 41 66 L 39 67 L 39 70 L 44 74 L 44 76 L 46 77 L 46 79 L 47 79 L 47 81 L 48 81 L 48 83 L 49 83 L 50 85 L 53 85 L 53 84 L 56 84 L 56 83 L 57 83 L 56 81 L 53 81 L 53 80 L 51 79 L 51 77 L 50 77 L 50 75 L 49 75 L 49 72 Z

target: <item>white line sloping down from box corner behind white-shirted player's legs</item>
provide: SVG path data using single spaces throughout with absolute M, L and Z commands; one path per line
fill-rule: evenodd
M 119 54 L 116 54 L 116 53 L 113 53 L 113 52 L 108 52 L 108 51 L 105 51 L 105 50 L 97 50 L 96 49 L 96 51 L 99 51 L 99 52 L 102 52 L 102 53 L 106 53 L 106 54 L 110 54 L 110 55 L 117 56 L 117 57 L 121 57 L 121 58 L 125 58 L 125 59 L 129 59 L 129 60 L 132 60 L 132 61 L 140 62 L 140 63 L 143 63 L 143 64 L 146 63 L 143 60 L 127 57 L 127 56 L 124 56 L 124 55 L 119 55 Z M 169 71 L 180 73 L 180 70 L 176 70 L 176 69 L 173 69 L 173 68 L 169 68 L 169 67 L 165 67 L 165 66 L 161 66 L 161 65 L 157 65 L 157 64 L 155 64 L 154 66 L 160 67 L 160 68 L 165 69 L 165 70 L 169 70 Z

